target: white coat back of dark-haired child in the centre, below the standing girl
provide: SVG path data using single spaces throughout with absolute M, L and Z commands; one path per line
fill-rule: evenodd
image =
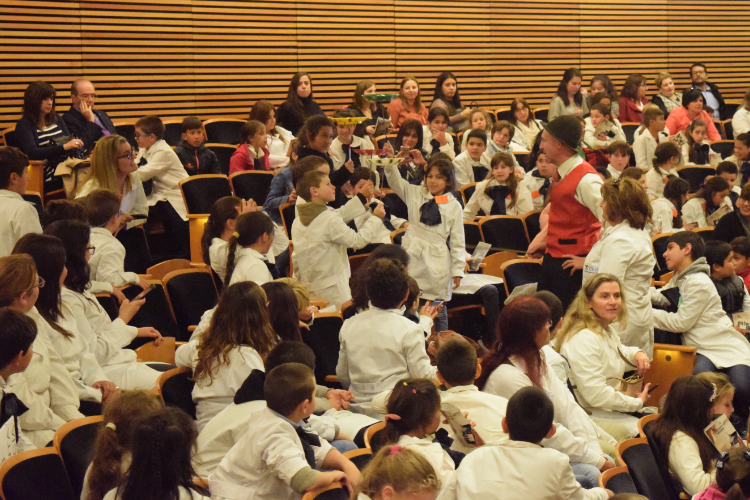
M 402 378 L 435 378 L 422 328 L 400 309 L 370 307 L 347 319 L 339 342 L 336 375 L 358 404 L 393 389 Z

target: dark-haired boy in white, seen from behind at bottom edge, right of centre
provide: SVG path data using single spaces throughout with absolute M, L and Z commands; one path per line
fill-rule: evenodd
M 555 434 L 554 408 L 538 387 L 524 387 L 508 401 L 502 428 L 509 441 L 484 446 L 467 455 L 456 473 L 458 499 L 500 498 L 499 488 L 512 498 L 598 499 L 612 496 L 603 488 L 584 490 L 576 481 L 568 457 L 540 446 Z

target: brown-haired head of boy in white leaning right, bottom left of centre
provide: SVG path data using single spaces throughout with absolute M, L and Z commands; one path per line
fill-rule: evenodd
M 301 363 L 284 363 L 266 374 L 263 392 L 268 408 L 288 418 L 301 403 L 314 402 L 315 374 Z

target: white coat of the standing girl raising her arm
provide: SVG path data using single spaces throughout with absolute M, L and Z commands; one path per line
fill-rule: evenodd
M 409 227 L 401 240 L 401 246 L 411 257 L 409 275 L 422 290 L 427 300 L 450 300 L 454 276 L 463 278 L 466 265 L 461 204 L 447 193 L 446 203 L 438 204 L 441 222 L 428 226 L 419 221 L 420 208 L 434 198 L 424 186 L 414 186 L 401 178 L 395 165 L 385 168 L 388 185 L 404 200 L 409 210 Z M 450 246 L 448 239 L 450 238 Z

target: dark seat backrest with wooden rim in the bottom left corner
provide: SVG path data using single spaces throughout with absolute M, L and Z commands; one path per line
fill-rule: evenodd
M 54 448 L 25 451 L 0 464 L 0 493 L 5 500 L 77 500 Z

